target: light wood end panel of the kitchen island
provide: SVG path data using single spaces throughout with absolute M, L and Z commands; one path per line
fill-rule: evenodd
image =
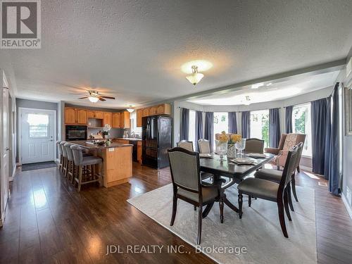
M 104 187 L 128 182 L 132 177 L 132 146 L 103 149 L 99 156 L 104 161 Z

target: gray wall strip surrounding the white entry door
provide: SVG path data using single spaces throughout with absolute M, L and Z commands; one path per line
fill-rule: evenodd
M 56 111 L 56 139 L 60 139 L 60 123 L 58 122 L 58 109 L 59 109 L 59 103 L 51 103 L 51 102 L 45 102 L 45 101 L 34 101 L 34 100 L 28 100 L 28 99 L 20 99 L 16 98 L 16 112 L 18 112 L 18 108 L 23 107 L 23 108 L 37 108 L 37 109 L 45 109 L 45 110 L 54 110 Z M 19 120 L 19 115 L 17 115 L 16 118 L 16 127 L 18 127 L 18 120 Z M 18 131 L 16 133 L 16 162 L 18 162 L 18 135 L 20 132 Z

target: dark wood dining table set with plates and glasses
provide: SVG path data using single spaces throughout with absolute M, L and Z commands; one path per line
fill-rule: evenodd
M 227 198 L 225 194 L 225 189 L 231 187 L 233 184 L 238 184 L 246 176 L 248 176 L 251 172 L 258 170 L 263 167 L 265 163 L 269 163 L 272 161 L 275 156 L 270 153 L 265 153 L 265 158 L 251 158 L 247 156 L 247 153 L 244 153 L 244 156 L 241 158 L 249 158 L 253 161 L 252 165 L 239 165 L 237 163 L 232 162 L 232 158 L 227 158 L 226 156 L 223 158 L 223 161 L 220 161 L 220 156 L 213 154 L 208 158 L 200 158 L 200 169 L 202 172 L 208 172 L 214 175 L 215 180 L 220 179 L 220 177 L 229 178 L 229 182 L 222 184 L 221 186 L 221 199 L 223 202 L 229 206 L 232 210 L 238 213 L 238 208 L 234 206 Z M 203 217 L 208 215 L 211 206 L 207 206 L 207 208 L 203 212 Z M 221 220 L 221 222 L 223 219 Z

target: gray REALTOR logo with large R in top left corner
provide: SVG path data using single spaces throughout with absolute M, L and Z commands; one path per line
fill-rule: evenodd
M 1 49 L 40 49 L 40 0 L 1 1 Z

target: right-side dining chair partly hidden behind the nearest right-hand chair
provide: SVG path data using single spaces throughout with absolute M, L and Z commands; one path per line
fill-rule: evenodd
M 296 167 L 298 168 L 299 161 L 301 160 L 301 155 L 303 151 L 303 142 L 300 142 L 298 145 L 298 151 L 297 151 L 297 158 L 296 158 Z M 287 186 L 289 189 L 289 205 L 291 210 L 294 210 L 294 206 L 291 201 L 291 190 L 292 194 L 294 194 L 294 199 L 298 201 L 297 194 L 296 194 L 296 180 L 295 180 L 295 175 L 296 175 L 296 170 L 294 170 L 293 174 L 291 175 L 291 186 L 290 184 Z M 282 177 L 282 172 L 279 170 L 272 170 L 272 169 L 261 169 L 258 170 L 255 174 L 254 177 L 263 179 L 263 180 L 271 180 L 272 182 L 279 182 Z

